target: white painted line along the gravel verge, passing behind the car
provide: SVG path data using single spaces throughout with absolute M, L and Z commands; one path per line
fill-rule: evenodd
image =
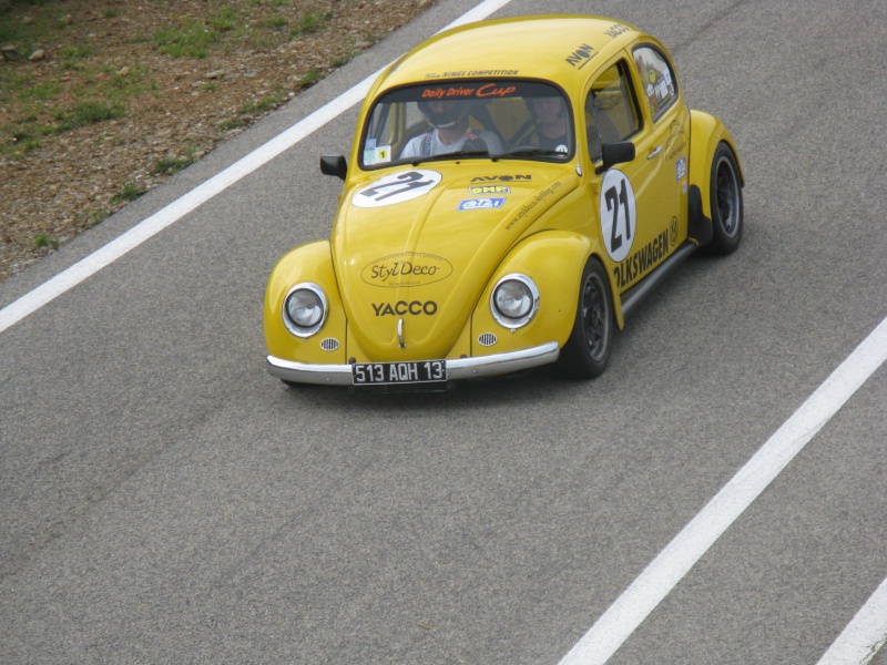
M 511 0 L 487 0 L 486 2 L 481 2 L 452 21 L 449 25 L 443 28 L 443 30 L 485 19 L 509 2 L 511 2 Z M 89 279 L 105 266 L 114 263 L 121 256 L 128 254 L 164 228 L 173 225 L 242 177 L 249 175 L 256 168 L 267 164 L 282 152 L 293 147 L 333 119 L 361 102 L 369 91 L 373 81 L 376 80 L 376 76 L 378 76 L 383 69 L 364 79 L 350 90 L 341 93 L 332 102 L 300 120 L 282 134 L 278 134 L 264 145 L 257 147 L 252 153 L 217 173 L 181 198 L 143 219 L 101 249 L 96 249 L 70 268 L 59 273 L 18 300 L 0 309 L 0 332 L 14 326 L 24 317 L 33 314 L 48 303 L 51 303 L 81 282 Z

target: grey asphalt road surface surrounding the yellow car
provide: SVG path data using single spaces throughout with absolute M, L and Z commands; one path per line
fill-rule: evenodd
M 441 0 L 0 307 L 471 7 Z M 592 382 L 290 390 L 264 283 L 328 234 L 317 156 L 356 110 L 333 119 L 0 332 L 0 662 L 558 663 L 887 317 L 887 6 L 594 11 L 660 37 L 733 132 L 740 250 L 685 264 Z M 610 662 L 817 663 L 887 577 L 885 405 L 881 366 Z

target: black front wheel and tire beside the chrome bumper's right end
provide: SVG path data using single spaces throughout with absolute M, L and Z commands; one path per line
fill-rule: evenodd
M 561 374 L 577 379 L 602 375 L 610 360 L 614 331 L 610 283 L 601 262 L 592 256 L 582 272 L 573 330 L 561 350 Z

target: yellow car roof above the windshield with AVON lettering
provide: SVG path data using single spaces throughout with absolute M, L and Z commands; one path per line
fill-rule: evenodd
M 646 37 L 629 23 L 589 16 L 538 16 L 469 23 L 405 54 L 378 86 L 447 78 L 521 76 L 565 81 Z

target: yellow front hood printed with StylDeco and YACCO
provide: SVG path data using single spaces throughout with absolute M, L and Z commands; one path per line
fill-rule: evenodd
M 579 182 L 562 165 L 482 173 L 373 172 L 343 194 L 333 259 L 350 334 L 373 360 L 443 358 L 502 257 Z

